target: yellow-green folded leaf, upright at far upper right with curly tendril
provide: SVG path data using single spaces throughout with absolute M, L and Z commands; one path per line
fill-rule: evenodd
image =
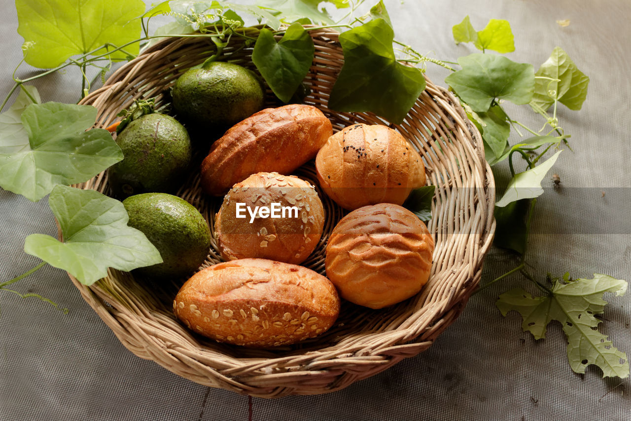
M 589 77 L 580 71 L 567 52 L 555 47 L 545 63 L 537 71 L 534 82 L 534 96 L 531 104 L 546 111 L 555 99 L 572 110 L 581 109 L 587 97 Z

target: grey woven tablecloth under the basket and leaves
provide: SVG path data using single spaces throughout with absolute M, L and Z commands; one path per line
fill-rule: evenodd
M 42 3 L 45 3 L 42 1 Z M 370 3 L 370 2 L 369 2 Z M 449 61 L 475 52 L 456 46 L 451 27 L 469 15 L 476 28 L 490 18 L 510 21 L 517 62 L 545 61 L 555 46 L 567 51 L 591 78 L 579 112 L 559 109 L 572 135 L 548 178 L 529 245 L 529 269 L 591 278 L 594 272 L 631 279 L 631 187 L 628 133 L 631 113 L 631 3 L 627 0 L 384 0 L 397 39 L 417 51 Z M 12 2 L 0 16 L 0 92 L 21 59 Z M 569 20 L 562 27 L 557 20 Z M 18 76 L 35 73 L 23 66 Z M 443 82 L 447 71 L 430 65 L 427 75 Z M 44 101 L 76 102 L 80 75 L 55 73 L 34 83 Z M 530 126 L 541 122 L 526 107 L 507 106 Z M 513 138 L 514 140 L 514 138 Z M 507 174 L 500 164 L 497 180 Z M 0 281 L 38 264 L 23 252 L 31 233 L 57 235 L 47 200 L 28 202 L 0 190 Z M 483 283 L 516 265 L 493 248 Z M 572 372 L 565 337 L 553 323 L 547 338 L 523 333 L 521 317 L 504 318 L 497 296 L 526 283 L 514 276 L 469 300 L 463 315 L 427 351 L 374 377 L 331 394 L 254 398 L 187 381 L 127 351 L 83 302 L 65 272 L 49 265 L 14 284 L 22 293 L 50 298 L 68 314 L 39 300 L 0 291 L 0 420 L 628 420 L 628 379 L 602 379 L 589 367 Z M 526 286 L 526 288 L 529 288 Z M 536 292 L 533 290 L 533 293 Z M 631 296 L 606 297 L 601 332 L 631 355 Z

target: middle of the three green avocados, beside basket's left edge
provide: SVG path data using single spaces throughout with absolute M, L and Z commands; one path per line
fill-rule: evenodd
M 124 159 L 107 170 L 117 197 L 145 192 L 172 192 L 191 162 L 191 138 L 175 118 L 147 114 L 135 119 L 116 138 Z

